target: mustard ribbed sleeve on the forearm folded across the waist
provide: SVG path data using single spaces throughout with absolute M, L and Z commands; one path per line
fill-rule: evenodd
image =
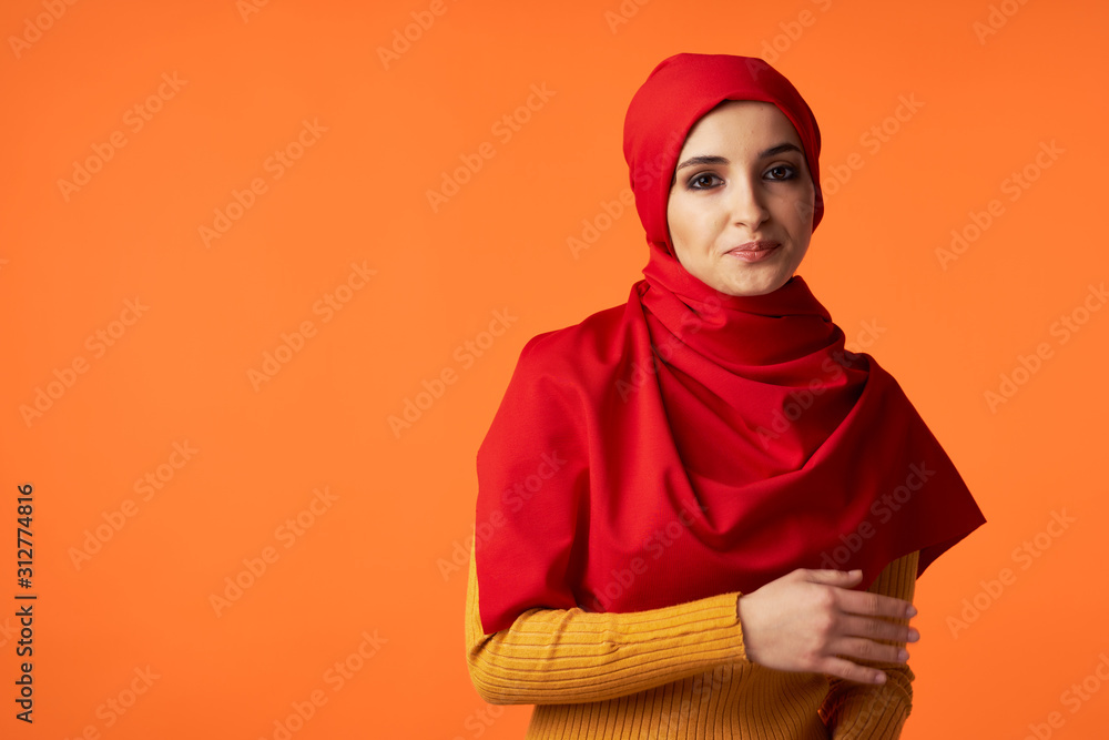
M 466 652 L 470 679 L 492 704 L 603 701 L 746 661 L 739 594 L 627 614 L 529 609 L 484 635 L 470 553 Z

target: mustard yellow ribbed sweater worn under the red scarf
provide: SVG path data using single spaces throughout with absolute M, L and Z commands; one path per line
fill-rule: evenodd
M 868 590 L 913 600 L 918 553 L 891 562 Z M 903 663 L 881 686 L 751 662 L 737 592 L 628 614 L 529 609 L 482 633 L 470 553 L 466 651 L 489 703 L 536 704 L 527 739 L 898 738 L 915 678 Z M 895 620 L 902 624 L 905 620 Z

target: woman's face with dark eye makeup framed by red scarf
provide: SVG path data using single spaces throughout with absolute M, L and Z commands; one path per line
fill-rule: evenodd
M 801 138 L 776 105 L 718 105 L 690 130 L 670 187 L 678 261 L 722 293 L 776 291 L 808 250 L 814 199 Z

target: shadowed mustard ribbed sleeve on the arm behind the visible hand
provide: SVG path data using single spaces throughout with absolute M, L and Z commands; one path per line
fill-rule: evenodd
M 867 589 L 874 594 L 885 594 L 906 601 L 913 600 L 916 590 L 916 568 L 919 553 L 901 557 L 885 567 L 874 584 Z M 884 618 L 901 625 L 907 619 Z M 881 640 L 886 645 L 899 645 Z M 912 647 L 912 645 L 909 646 Z M 828 726 L 834 740 L 866 738 L 867 740 L 896 740 L 913 710 L 913 680 L 916 676 L 907 663 L 889 663 L 859 660 L 886 672 L 882 686 L 867 686 L 828 678 L 831 689 L 821 717 Z

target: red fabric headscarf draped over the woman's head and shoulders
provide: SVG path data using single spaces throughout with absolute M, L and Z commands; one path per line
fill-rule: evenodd
M 777 105 L 823 215 L 820 132 L 759 59 L 678 54 L 635 94 L 624 153 L 650 244 L 628 303 L 521 353 L 478 450 L 486 633 L 542 607 L 638 611 L 750 592 L 795 568 L 918 574 L 985 523 L 897 382 L 844 349 L 804 280 L 718 293 L 673 256 L 667 201 L 685 135 L 724 100 Z

